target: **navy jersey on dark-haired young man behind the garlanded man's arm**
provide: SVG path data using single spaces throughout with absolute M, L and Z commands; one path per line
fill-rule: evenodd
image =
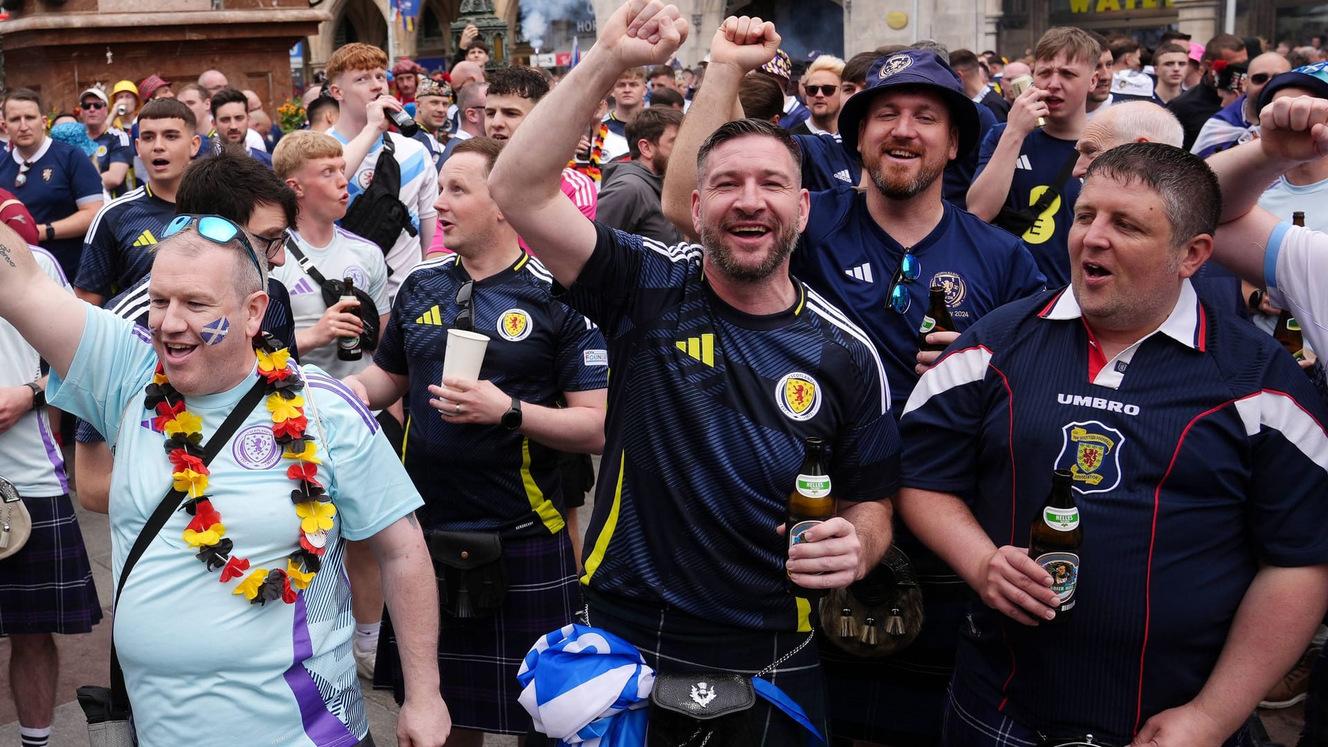
M 173 218 L 175 203 L 153 194 L 150 185 L 106 203 L 88 229 L 74 287 L 110 299 L 147 276 L 151 247 Z

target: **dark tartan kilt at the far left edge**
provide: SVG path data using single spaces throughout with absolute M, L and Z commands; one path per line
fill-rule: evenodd
M 101 621 L 78 517 L 69 496 L 27 497 L 32 536 L 0 560 L 0 634 L 88 633 Z

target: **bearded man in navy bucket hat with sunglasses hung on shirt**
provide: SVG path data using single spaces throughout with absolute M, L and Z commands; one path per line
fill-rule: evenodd
M 726 70 L 710 65 L 673 148 L 664 194 L 665 211 L 679 227 L 691 222 L 699 144 L 730 116 L 736 98 L 740 78 Z M 866 80 L 867 88 L 839 112 L 839 134 L 846 152 L 861 154 L 870 182 L 863 191 L 811 193 L 791 270 L 863 330 L 884 364 L 894 401 L 900 403 L 939 355 L 918 350 L 931 286 L 944 288 L 957 326 L 928 336 L 944 347 L 999 306 L 1042 290 L 1045 280 L 1020 239 L 942 199 L 946 165 L 968 154 L 980 130 L 977 105 L 959 76 L 935 52 L 910 49 L 879 57 Z M 954 593 L 959 580 L 907 532 L 899 532 L 895 541 L 922 576 L 935 580 L 923 589 L 923 598 L 928 625 L 938 633 L 926 633 L 891 659 L 910 671 L 894 678 L 891 689 L 879 686 L 875 670 L 827 663 L 831 703 L 843 704 L 833 716 L 837 735 L 880 743 L 934 742 L 964 613 L 961 597 Z M 882 699 L 898 694 L 915 707 L 858 707 L 862 693 L 882 694 Z

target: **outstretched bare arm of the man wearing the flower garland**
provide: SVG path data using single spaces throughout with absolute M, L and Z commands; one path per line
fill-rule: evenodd
M 13 229 L 0 223 L 0 318 L 13 324 L 61 377 L 69 374 L 82 339 L 86 308 L 41 271 Z

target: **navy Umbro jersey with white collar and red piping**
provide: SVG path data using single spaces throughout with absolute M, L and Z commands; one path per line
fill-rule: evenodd
M 1259 568 L 1328 562 L 1325 416 L 1275 340 L 1189 280 L 1113 360 L 1070 290 L 989 314 L 904 408 L 904 485 L 972 496 L 996 545 L 1027 546 L 1069 469 L 1082 565 L 1064 625 L 975 603 L 956 682 L 1032 728 L 1117 744 L 1191 700 Z

